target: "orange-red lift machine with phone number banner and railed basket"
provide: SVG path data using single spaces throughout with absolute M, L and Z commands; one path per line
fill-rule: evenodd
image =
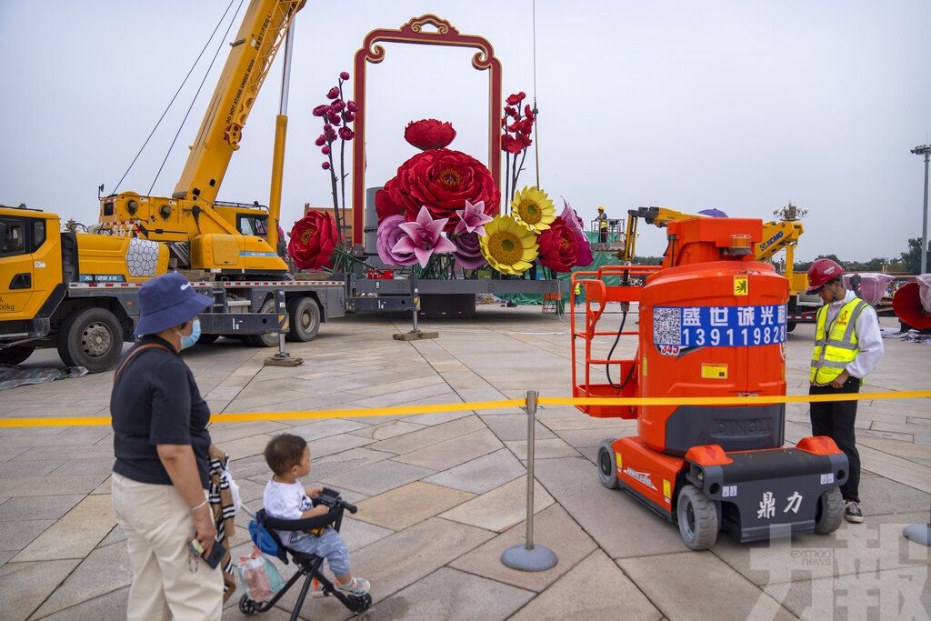
M 573 397 L 785 395 L 789 281 L 754 259 L 762 221 L 694 218 L 667 229 L 661 266 L 573 274 L 573 287 L 586 294 L 584 326 L 571 317 Z M 613 302 L 621 304 L 620 328 L 600 330 Z M 625 330 L 632 303 L 639 331 Z M 636 355 L 612 358 L 625 335 L 637 335 Z M 605 372 L 606 381 L 593 372 Z M 637 420 L 638 436 L 601 442 L 601 483 L 677 522 L 692 549 L 713 546 L 721 530 L 744 542 L 830 533 L 843 520 L 846 456 L 824 437 L 783 448 L 784 404 L 578 408 Z

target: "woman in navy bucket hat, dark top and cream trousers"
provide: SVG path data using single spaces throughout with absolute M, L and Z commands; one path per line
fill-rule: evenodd
M 180 274 L 139 292 L 138 343 L 114 377 L 113 504 L 126 533 L 133 582 L 128 619 L 219 619 L 223 576 L 209 554 L 210 411 L 181 351 L 197 342 L 197 315 L 213 301 Z M 196 542 L 192 542 L 196 540 Z

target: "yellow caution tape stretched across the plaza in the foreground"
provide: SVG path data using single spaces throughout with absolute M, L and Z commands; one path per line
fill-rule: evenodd
M 931 390 L 911 390 L 884 393 L 843 393 L 837 395 L 785 395 L 769 397 L 539 397 L 539 405 L 760 405 L 771 403 L 821 403 L 825 401 L 871 401 L 891 398 L 931 398 Z M 468 403 L 439 403 L 436 405 L 403 405 L 391 408 L 365 410 L 306 410 L 303 412 L 236 412 L 213 414 L 211 423 L 247 423 L 254 421 L 295 421 L 325 418 L 367 418 L 370 416 L 411 416 L 437 412 L 467 412 L 522 408 L 525 398 L 499 401 L 470 401 Z M 110 425 L 110 416 L 55 416 L 31 418 L 3 418 L 0 428 L 9 427 L 68 427 Z

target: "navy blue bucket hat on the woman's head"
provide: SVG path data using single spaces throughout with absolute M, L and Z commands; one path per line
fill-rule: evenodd
M 213 299 L 201 295 L 177 272 L 155 277 L 139 290 L 140 316 L 133 334 L 155 334 L 197 317 Z

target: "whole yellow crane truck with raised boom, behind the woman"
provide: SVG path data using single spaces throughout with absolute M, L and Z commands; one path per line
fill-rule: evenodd
M 343 280 L 294 281 L 276 251 L 291 24 L 302 7 L 304 0 L 251 0 L 171 196 L 103 196 L 93 234 L 61 231 L 48 211 L 0 207 L 0 363 L 56 347 L 69 366 L 112 368 L 132 340 L 139 288 L 169 269 L 187 270 L 215 300 L 200 316 L 204 342 L 225 335 L 273 346 L 285 319 L 290 340 L 309 341 L 321 321 L 344 315 Z M 268 208 L 217 201 L 279 47 L 284 75 Z

